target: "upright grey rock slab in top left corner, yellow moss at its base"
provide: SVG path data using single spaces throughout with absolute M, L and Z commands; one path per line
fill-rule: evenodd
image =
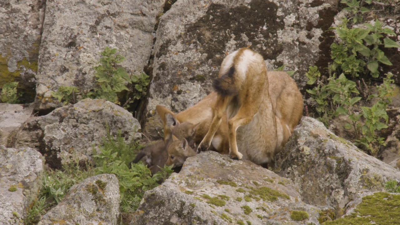
M 35 76 L 44 20 L 45 0 L 7 0 L 0 8 L 0 88 L 18 81 L 22 101 L 35 97 Z

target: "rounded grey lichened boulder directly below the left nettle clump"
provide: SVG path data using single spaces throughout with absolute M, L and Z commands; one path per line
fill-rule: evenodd
M 107 128 L 108 127 L 108 128 Z M 102 99 L 84 99 L 41 117 L 32 117 L 16 135 L 15 147 L 29 146 L 46 157 L 46 164 L 61 169 L 62 163 L 90 160 L 93 146 L 118 132 L 127 143 L 141 137 L 140 124 L 124 108 Z

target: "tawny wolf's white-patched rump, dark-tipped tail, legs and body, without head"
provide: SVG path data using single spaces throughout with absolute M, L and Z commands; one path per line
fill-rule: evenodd
M 294 80 L 286 72 L 267 74 L 260 54 L 240 48 L 224 58 L 212 86 L 214 117 L 197 152 L 210 148 L 226 115 L 232 159 L 263 166 L 273 161 L 302 117 L 303 98 Z

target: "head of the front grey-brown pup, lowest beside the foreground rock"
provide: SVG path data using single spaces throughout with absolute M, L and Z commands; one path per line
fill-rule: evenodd
M 172 136 L 173 142 L 168 146 L 168 159 L 165 165 L 174 165 L 172 168 L 181 167 L 188 157 L 197 153 L 189 145 L 186 139 L 179 140 Z

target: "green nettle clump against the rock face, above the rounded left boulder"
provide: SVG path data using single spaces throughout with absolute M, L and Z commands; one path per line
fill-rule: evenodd
M 126 58 L 117 54 L 116 48 L 106 47 L 100 54 L 102 57 L 98 66 L 93 67 L 95 87 L 92 90 L 79 90 L 74 86 L 60 86 L 57 92 L 52 92 L 52 96 L 65 105 L 76 103 L 77 96 L 80 96 L 80 98 L 100 98 L 120 104 L 119 97 L 123 92 L 127 92 L 127 95 L 132 94 L 133 100 L 146 95 L 147 86 L 150 83 L 147 74 L 141 73 L 140 76 L 128 74 L 125 68 L 119 66 Z M 130 84 L 134 86 L 134 90 L 128 88 Z M 128 100 L 124 105 L 130 102 L 131 100 Z

